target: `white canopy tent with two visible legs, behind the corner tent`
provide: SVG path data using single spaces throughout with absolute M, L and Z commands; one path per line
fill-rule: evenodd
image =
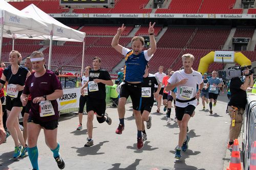
M 63 23 L 57 21 L 44 11 L 37 8 L 34 4 L 29 5 L 28 7 L 22 10 L 26 14 L 29 14 L 36 18 L 39 21 L 46 23 L 48 28 L 51 30 L 51 34 L 46 35 L 32 35 L 34 39 L 50 39 L 50 49 L 49 49 L 49 61 L 48 61 L 48 69 L 51 69 L 51 58 L 52 58 L 52 41 L 78 41 L 83 42 L 83 51 L 82 51 L 82 69 L 81 73 L 83 73 L 83 59 L 84 59 L 84 46 L 85 46 L 85 37 L 86 33 L 77 31 L 72 29 Z M 17 38 L 26 38 L 26 35 L 16 35 Z M 29 38 L 30 39 L 30 38 Z

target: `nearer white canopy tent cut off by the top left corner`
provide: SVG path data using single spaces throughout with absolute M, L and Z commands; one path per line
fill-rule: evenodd
M 8 34 L 50 34 L 50 29 L 41 21 L 17 10 L 4 0 L 0 0 L 0 60 L 3 36 Z

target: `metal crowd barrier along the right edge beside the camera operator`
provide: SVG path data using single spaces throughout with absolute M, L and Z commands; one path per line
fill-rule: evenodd
M 243 117 L 242 153 L 245 170 L 256 169 L 256 94 L 247 94 L 246 112 Z

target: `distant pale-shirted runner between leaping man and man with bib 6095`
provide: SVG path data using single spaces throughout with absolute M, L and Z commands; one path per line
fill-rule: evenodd
M 160 112 L 160 107 L 161 107 L 162 98 L 163 98 L 163 88 L 164 88 L 163 78 L 166 76 L 166 74 L 163 73 L 163 66 L 159 66 L 159 72 L 156 72 L 155 76 L 158 78 L 159 82 L 161 83 L 161 90 L 159 92 L 158 99 L 156 99 L 157 100 L 157 112 Z M 157 86 L 155 86 L 155 92 L 156 91 L 157 91 Z

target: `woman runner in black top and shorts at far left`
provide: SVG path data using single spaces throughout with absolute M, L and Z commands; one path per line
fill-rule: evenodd
M 4 70 L 0 80 L 0 88 L 4 86 L 5 82 L 8 83 L 6 89 L 6 109 L 8 114 L 6 126 L 15 143 L 15 150 L 13 154 L 14 158 L 19 156 L 24 157 L 27 151 L 26 143 L 24 141 L 22 131 L 19 128 L 17 117 L 22 111 L 20 95 L 24 89 L 27 77 L 31 75 L 27 68 L 19 66 L 19 57 L 19 52 L 11 51 L 9 55 L 9 62 L 11 63 L 11 66 Z

